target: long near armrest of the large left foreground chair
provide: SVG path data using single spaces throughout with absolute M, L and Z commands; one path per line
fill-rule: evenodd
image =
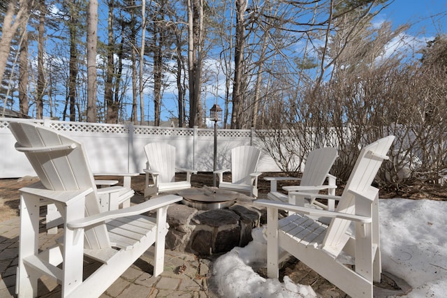
M 131 207 L 127 207 L 124 209 L 105 211 L 100 214 L 95 214 L 93 216 L 80 218 L 78 220 L 67 223 L 67 227 L 71 229 L 87 228 L 91 225 L 96 225 L 97 223 L 107 221 L 108 219 L 122 218 L 126 216 L 142 214 L 147 211 L 152 211 L 155 209 L 159 209 L 161 207 L 166 207 L 169 204 L 173 204 L 181 200 L 183 200 L 183 198 L 180 197 L 179 195 L 163 195 L 162 197 L 147 200 L 146 202 L 135 204 Z

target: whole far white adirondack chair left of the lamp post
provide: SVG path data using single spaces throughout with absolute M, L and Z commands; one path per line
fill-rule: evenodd
M 191 174 L 197 171 L 175 167 L 175 147 L 166 143 L 145 145 L 147 157 L 145 197 L 191 188 Z M 186 180 L 175 181 L 175 172 L 186 172 Z M 152 177 L 152 184 L 149 184 Z

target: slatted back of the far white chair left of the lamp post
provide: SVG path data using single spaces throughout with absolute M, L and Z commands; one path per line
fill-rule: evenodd
M 150 170 L 160 172 L 159 182 L 175 181 L 175 147 L 166 143 L 145 145 L 147 163 Z

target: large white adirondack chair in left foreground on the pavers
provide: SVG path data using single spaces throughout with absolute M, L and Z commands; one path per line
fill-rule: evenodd
M 37 297 L 41 276 L 60 283 L 62 297 L 99 297 L 152 244 L 154 275 L 163 271 L 166 211 L 181 197 L 167 195 L 101 212 L 82 144 L 36 124 L 9 125 L 17 140 L 16 149 L 26 154 L 41 179 L 20 189 L 18 297 Z M 57 205 L 64 218 L 64 237 L 59 245 L 39 251 L 42 200 Z M 152 210 L 156 218 L 140 215 Z M 102 263 L 89 276 L 82 276 L 85 256 Z

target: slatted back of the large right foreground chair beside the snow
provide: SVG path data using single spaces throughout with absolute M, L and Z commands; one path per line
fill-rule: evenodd
M 371 184 L 376 177 L 379 168 L 386 154 L 393 144 L 394 136 L 383 137 L 376 142 L 364 147 L 358 156 L 356 165 L 354 165 L 349 180 L 342 193 L 342 198 L 335 211 L 346 214 L 356 214 L 356 195 L 361 193 L 371 202 L 376 198 L 376 188 Z M 333 218 L 323 240 L 323 247 L 326 251 L 338 255 L 342 251 L 344 244 L 349 237 L 346 231 L 351 221 L 340 218 Z

